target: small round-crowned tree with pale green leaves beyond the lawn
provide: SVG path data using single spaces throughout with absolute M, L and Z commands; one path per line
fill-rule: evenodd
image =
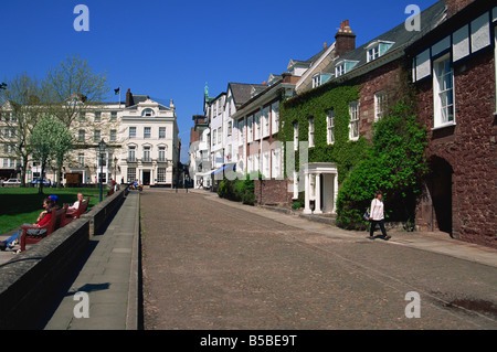
M 33 158 L 41 161 L 41 174 L 45 172 L 46 164 L 53 160 L 62 168 L 63 156 L 72 148 L 73 136 L 59 118 L 45 115 L 36 124 L 29 136 Z M 43 182 L 40 183 L 40 193 L 43 193 Z

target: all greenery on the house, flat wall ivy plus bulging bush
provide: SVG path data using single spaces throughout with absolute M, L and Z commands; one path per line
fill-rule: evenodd
M 426 131 L 416 121 L 414 96 L 408 83 L 400 79 L 398 96 L 389 113 L 373 126 L 372 140 L 349 138 L 349 104 L 359 99 L 360 84 L 327 83 L 316 89 L 285 100 L 281 106 L 278 139 L 308 141 L 309 118 L 314 118 L 315 147 L 309 148 L 308 162 L 334 162 L 340 185 L 337 199 L 337 224 L 345 228 L 364 228 L 362 214 L 377 190 L 384 194 L 387 216 L 392 221 L 413 221 L 421 178 L 426 172 L 424 150 Z M 334 110 L 335 141 L 328 143 L 327 111 Z M 295 169 L 299 170 L 299 152 Z M 286 177 L 292 178 L 286 170 Z M 304 192 L 299 193 L 303 201 Z

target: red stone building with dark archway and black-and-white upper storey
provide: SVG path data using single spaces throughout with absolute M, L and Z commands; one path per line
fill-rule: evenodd
M 431 169 L 416 225 L 497 247 L 497 8 L 491 3 L 446 0 L 446 20 L 413 43 L 409 55 Z

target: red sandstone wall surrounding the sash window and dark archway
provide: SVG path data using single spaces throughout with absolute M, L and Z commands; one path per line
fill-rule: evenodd
M 432 79 L 419 86 L 417 116 L 426 126 L 427 158 L 440 157 L 453 168 L 453 232 L 463 241 L 497 247 L 497 120 L 494 52 L 455 67 L 456 126 L 432 131 Z M 416 223 L 430 227 L 431 200 L 419 204 Z M 436 226 L 436 224 L 435 224 Z

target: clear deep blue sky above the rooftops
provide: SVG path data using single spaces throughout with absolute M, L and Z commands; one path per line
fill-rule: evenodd
M 335 41 L 350 21 L 357 45 L 402 23 L 410 3 L 436 0 L 15 0 L 0 4 L 0 81 L 19 73 L 41 78 L 78 54 L 112 88 L 121 86 L 177 107 L 181 160 L 188 159 L 192 115 L 229 82 L 262 83 Z M 76 32 L 77 4 L 89 9 L 89 32 Z M 124 99 L 124 94 L 121 95 Z M 109 93 L 109 100 L 116 97 Z

